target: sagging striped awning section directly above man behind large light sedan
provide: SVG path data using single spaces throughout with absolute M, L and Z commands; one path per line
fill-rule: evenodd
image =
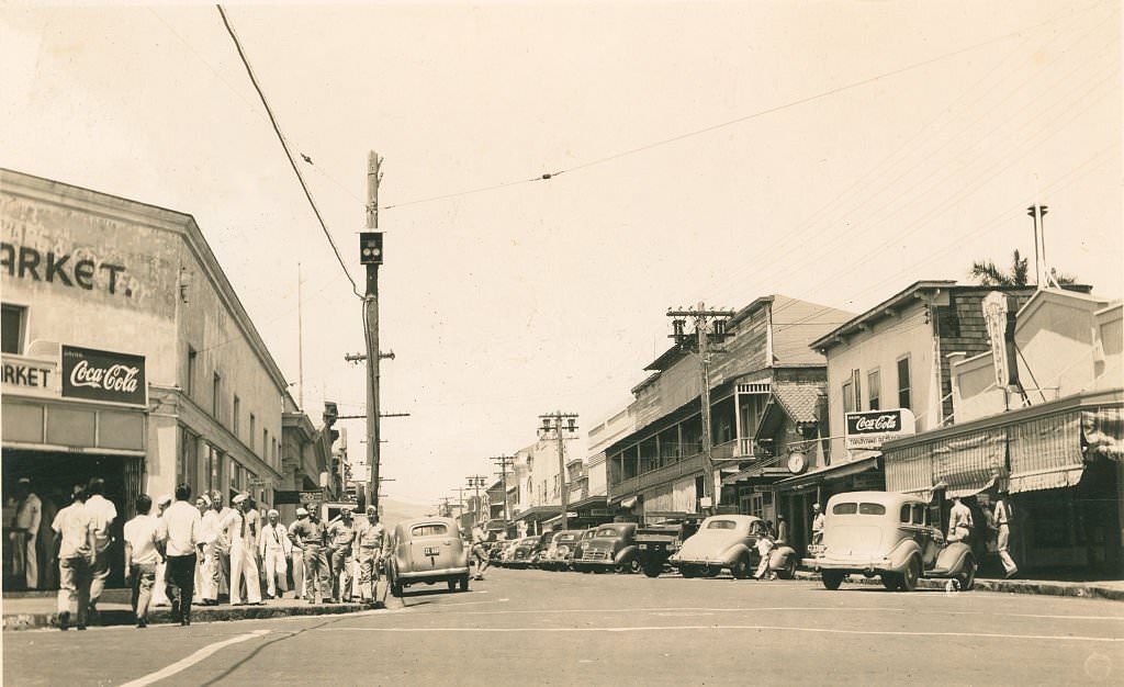
M 948 498 L 979 494 L 995 483 L 1007 462 L 1003 428 L 968 432 L 934 442 L 933 479 Z

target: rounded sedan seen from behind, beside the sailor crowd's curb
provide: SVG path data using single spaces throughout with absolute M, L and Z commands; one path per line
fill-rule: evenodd
M 390 591 L 401 596 L 410 585 L 447 582 L 448 590 L 469 590 L 469 550 L 457 535 L 456 521 L 422 517 L 395 526 L 387 563 Z

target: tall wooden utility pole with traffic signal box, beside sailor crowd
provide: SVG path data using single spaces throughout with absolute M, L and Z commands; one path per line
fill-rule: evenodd
M 368 504 L 379 513 L 379 265 L 382 264 L 382 233 L 379 232 L 379 182 L 382 157 L 371 151 L 366 161 L 366 230 L 360 234 L 360 262 L 366 266 L 363 298 L 363 331 L 366 338 L 366 462 L 371 467 Z

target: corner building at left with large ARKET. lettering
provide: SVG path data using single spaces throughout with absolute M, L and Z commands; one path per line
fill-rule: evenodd
M 101 477 L 120 560 L 140 492 L 272 501 L 285 379 L 190 215 L 0 170 L 0 283 L 6 504 Z

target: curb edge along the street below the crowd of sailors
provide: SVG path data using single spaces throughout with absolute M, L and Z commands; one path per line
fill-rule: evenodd
M 374 606 L 375 608 L 384 607 L 381 604 Z M 201 606 L 192 607 L 191 609 L 191 622 L 192 623 L 215 623 L 215 622 L 226 622 L 226 621 L 250 621 L 250 620 L 269 620 L 275 617 L 289 617 L 299 615 L 341 615 L 344 613 L 357 613 L 360 611 L 370 611 L 372 607 L 369 604 L 309 604 L 307 606 L 234 606 L 234 607 L 214 607 L 214 606 Z M 133 617 L 132 611 L 107 608 L 100 613 L 101 617 L 99 622 L 93 626 L 126 626 L 134 625 L 136 621 Z M 172 614 L 170 611 L 161 608 L 148 613 L 148 624 L 172 624 Z M 4 614 L 3 616 L 3 631 L 13 632 L 20 630 L 40 630 L 44 627 L 56 627 L 56 618 L 54 613 L 12 613 Z

